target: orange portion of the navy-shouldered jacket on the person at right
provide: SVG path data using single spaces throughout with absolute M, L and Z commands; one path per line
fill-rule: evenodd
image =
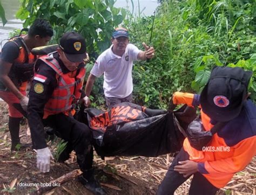
M 210 117 L 203 110 L 201 110 L 201 120 L 205 130 L 208 131 L 213 127 L 210 123 Z M 244 124 L 240 124 L 240 126 L 238 125 L 238 128 L 243 128 Z M 204 163 L 204 168 L 208 173 L 203 173 L 203 176 L 212 185 L 221 188 L 232 179 L 235 172 L 241 171 L 250 163 L 251 158 L 256 154 L 255 138 L 255 136 L 248 137 L 233 146 L 229 146 L 223 137 L 214 134 L 209 149 L 218 149 L 218 147 L 221 149 L 220 147 L 222 147 L 223 150 L 198 151 L 190 145 L 187 138 L 184 140 L 183 147 L 190 155 L 191 161 Z

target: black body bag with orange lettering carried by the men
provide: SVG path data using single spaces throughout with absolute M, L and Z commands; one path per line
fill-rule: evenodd
M 176 114 L 185 129 L 196 118 L 196 110 L 186 106 L 168 113 L 123 102 L 109 111 L 80 109 L 77 120 L 91 128 L 99 156 L 156 157 L 179 151 L 183 145 L 185 136 L 177 128 Z

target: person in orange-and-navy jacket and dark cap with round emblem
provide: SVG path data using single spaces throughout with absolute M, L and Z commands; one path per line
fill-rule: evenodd
M 191 175 L 190 194 L 215 194 L 233 175 L 243 170 L 256 154 L 256 107 L 247 99 L 252 76 L 241 68 L 215 67 L 201 95 L 176 92 L 173 103 L 201 106 L 204 132 L 217 129 L 202 150 L 185 139 L 157 194 L 173 194 Z

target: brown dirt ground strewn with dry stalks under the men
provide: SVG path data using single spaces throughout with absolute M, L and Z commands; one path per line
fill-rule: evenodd
M 4 102 L 0 102 L 0 110 L 0 194 L 32 194 L 38 187 L 50 185 L 50 181 L 79 169 L 74 152 L 65 163 L 52 161 L 51 171 L 48 173 L 40 173 L 37 170 L 36 152 L 31 148 L 11 152 L 9 116 Z M 31 142 L 26 128 L 24 120 L 19 134 L 22 143 Z M 56 151 L 56 143 L 56 141 L 48 142 L 53 154 Z M 107 157 L 104 161 L 97 154 L 94 157 L 96 178 L 104 186 L 107 194 L 155 194 L 171 161 L 172 154 L 157 158 Z M 246 169 L 235 174 L 231 182 L 220 189 L 218 194 L 256 194 L 255 165 L 256 158 L 254 157 Z M 181 185 L 176 194 L 188 194 L 190 180 L 191 178 Z M 91 194 L 78 182 L 77 178 L 62 185 L 59 183 L 51 185 L 57 186 L 45 194 Z

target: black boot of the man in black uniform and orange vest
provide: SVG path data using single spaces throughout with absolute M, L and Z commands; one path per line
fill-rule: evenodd
M 84 171 L 83 175 L 78 177 L 79 182 L 82 183 L 86 189 L 90 190 L 93 194 L 106 194 L 106 191 L 95 179 L 93 172 L 93 169 Z

